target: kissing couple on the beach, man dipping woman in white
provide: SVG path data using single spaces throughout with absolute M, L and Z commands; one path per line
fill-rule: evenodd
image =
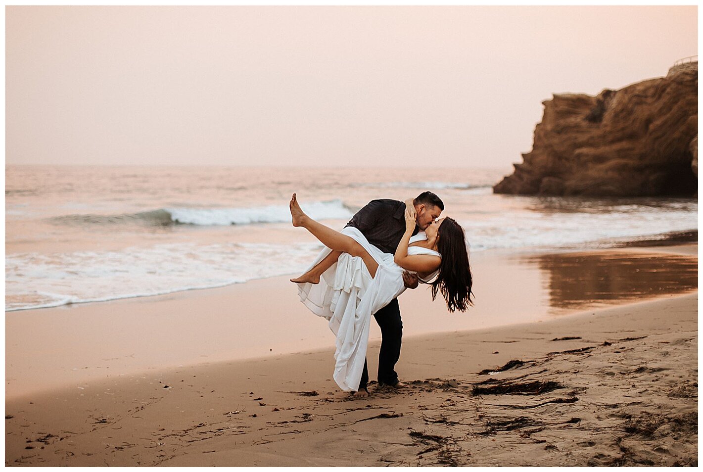
M 356 397 L 368 396 L 366 348 L 371 315 L 381 329 L 378 383 L 404 387 L 394 370 L 403 323 L 397 297 L 418 281 L 441 293 L 450 312 L 472 305 L 472 276 L 464 229 L 439 218 L 444 203 L 432 192 L 405 202 L 372 200 L 335 231 L 306 215 L 293 193 L 290 214 L 325 245 L 297 279 L 303 304 L 329 321 L 337 336 L 334 379 Z

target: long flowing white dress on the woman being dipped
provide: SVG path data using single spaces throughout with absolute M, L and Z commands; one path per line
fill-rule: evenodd
M 359 229 L 346 227 L 341 232 L 354 238 L 378 262 L 375 277 L 371 278 L 361 257 L 342 253 L 337 262 L 322 274 L 320 283 L 300 283 L 298 293 L 300 301 L 311 312 L 328 319 L 330 329 L 337 336 L 335 382 L 342 390 L 354 392 L 359 390 L 361 382 L 371 315 L 405 291 L 404 269 L 393 261 L 394 255 L 383 253 L 366 241 Z M 420 232 L 411 237 L 410 243 L 425 239 L 425 233 Z M 323 248 L 307 270 L 315 267 L 330 252 L 330 248 Z M 439 256 L 431 249 L 408 247 L 408 255 L 419 254 Z M 425 281 L 434 279 L 436 275 L 437 272 Z

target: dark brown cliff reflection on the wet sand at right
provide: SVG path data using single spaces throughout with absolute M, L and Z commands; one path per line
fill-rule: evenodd
M 547 276 L 551 312 L 579 310 L 698 288 L 695 257 L 636 253 L 569 253 L 527 257 Z

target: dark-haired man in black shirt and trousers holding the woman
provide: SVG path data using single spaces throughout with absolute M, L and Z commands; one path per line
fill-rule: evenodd
M 359 229 L 369 243 L 384 253 L 394 254 L 405 233 L 405 210 L 409 203 L 410 200 L 407 203 L 398 200 L 373 200 L 361 208 L 359 212 L 356 212 L 347 226 Z M 432 192 L 420 193 L 417 198 L 412 200 L 412 205 L 417 224 L 413 235 L 418 233 L 418 228 L 423 230 L 427 228 L 430 223 L 439 218 L 444 210 L 444 203 Z M 405 272 L 403 280 L 408 288 L 418 286 L 418 277 L 415 274 Z M 394 370 L 395 364 L 400 358 L 403 337 L 403 322 L 401 321 L 398 299 L 392 300 L 388 305 L 378 310 L 373 317 L 380 326 L 382 337 L 381 350 L 378 355 L 378 383 L 379 385 L 403 388 L 406 385 L 399 381 L 398 374 Z M 364 362 L 359 390 L 354 396 L 368 396 L 367 384 L 368 367 Z

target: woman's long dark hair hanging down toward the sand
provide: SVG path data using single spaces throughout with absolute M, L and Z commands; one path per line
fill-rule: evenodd
M 441 254 L 441 263 L 437 279 L 432 282 L 432 300 L 439 291 L 450 312 L 463 312 L 474 305 L 471 300 L 472 277 L 464 229 L 455 220 L 446 217 L 439 225 L 437 235 L 437 252 Z

